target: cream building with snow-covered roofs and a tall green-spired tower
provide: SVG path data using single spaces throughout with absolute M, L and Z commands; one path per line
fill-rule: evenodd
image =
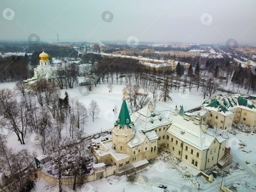
M 232 155 L 226 148 L 226 139 L 207 130 L 208 125 L 197 117 L 191 120 L 184 116 L 183 106 L 180 111 L 176 106 L 174 112 L 158 112 L 151 102 L 130 116 L 124 97 L 112 140 L 100 142 L 93 151 L 96 163 L 123 170 L 148 164 L 166 147 L 197 170 L 229 165 Z

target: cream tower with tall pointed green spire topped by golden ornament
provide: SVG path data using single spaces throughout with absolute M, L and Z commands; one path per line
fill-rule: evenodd
M 134 123 L 131 122 L 130 114 L 125 101 L 125 94 L 126 93 L 124 92 L 124 100 L 118 119 L 116 120 L 114 129 L 112 131 L 112 148 L 117 153 L 126 153 L 126 143 L 130 141 L 135 134 Z

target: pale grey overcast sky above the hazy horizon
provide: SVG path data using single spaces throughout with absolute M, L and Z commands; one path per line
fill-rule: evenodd
M 2 0 L 0 40 L 27 40 L 34 33 L 57 42 L 58 33 L 59 41 L 134 36 L 140 42 L 225 44 L 232 38 L 256 45 L 255 8 L 255 0 Z

